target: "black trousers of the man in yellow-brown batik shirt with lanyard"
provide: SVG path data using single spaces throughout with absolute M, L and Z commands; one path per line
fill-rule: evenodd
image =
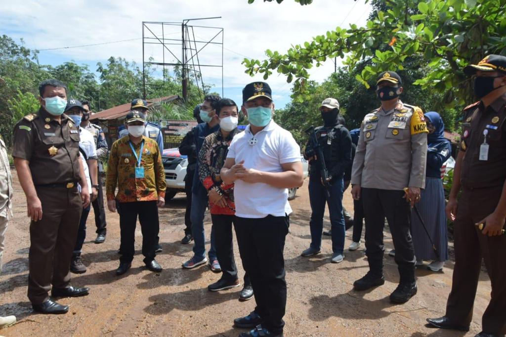
M 118 202 L 119 229 L 121 234 L 121 263 L 130 263 L 134 260 L 135 227 L 137 216 L 142 231 L 142 255 L 144 263 L 154 260 L 156 237 L 159 232 L 158 206 L 156 201 Z

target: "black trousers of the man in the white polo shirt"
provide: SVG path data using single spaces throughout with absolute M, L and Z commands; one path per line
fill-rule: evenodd
M 235 217 L 235 233 L 242 266 L 251 279 L 257 307 L 255 311 L 272 333 L 283 331 L 286 307 L 286 281 L 283 249 L 289 218 L 267 216 L 261 219 Z

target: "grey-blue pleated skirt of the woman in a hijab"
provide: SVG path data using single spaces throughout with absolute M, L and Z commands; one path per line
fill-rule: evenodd
M 431 241 L 418 217 L 411 212 L 411 236 L 417 260 L 448 260 L 448 232 L 446 228 L 445 199 L 443 182 L 439 178 L 426 178 L 425 190 L 421 191 L 416 204 L 427 230 L 434 242 L 439 259 L 432 248 Z

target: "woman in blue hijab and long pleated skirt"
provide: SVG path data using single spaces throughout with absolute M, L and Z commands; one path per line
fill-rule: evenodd
M 418 217 L 411 217 L 411 235 L 416 256 L 416 265 L 424 260 L 432 260 L 427 267 L 432 271 L 442 271 L 448 259 L 448 236 L 446 229 L 445 199 L 441 166 L 450 157 L 450 142 L 444 138 L 444 123 L 439 113 L 430 111 L 425 114 L 429 135 L 427 136 L 427 172 L 425 190 L 421 192 L 417 208 L 424 219 L 427 231 L 436 246 L 439 257 Z

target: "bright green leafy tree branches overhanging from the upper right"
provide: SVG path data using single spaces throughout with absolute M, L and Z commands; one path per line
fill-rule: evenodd
M 415 80 L 424 89 L 441 93 L 440 104 L 472 101 L 471 81 L 462 73 L 468 63 L 487 54 L 506 53 L 504 0 L 389 0 L 366 25 L 336 27 L 286 53 L 266 51 L 264 61 L 245 59 L 246 73 L 273 71 L 294 81 L 294 97 L 311 99 L 307 91 L 308 70 L 328 58 L 340 57 L 350 71 L 370 61 L 355 78 L 365 87 L 384 70 L 403 70 L 408 57 L 422 56 L 430 71 Z M 414 12 L 412 9 L 415 9 Z

